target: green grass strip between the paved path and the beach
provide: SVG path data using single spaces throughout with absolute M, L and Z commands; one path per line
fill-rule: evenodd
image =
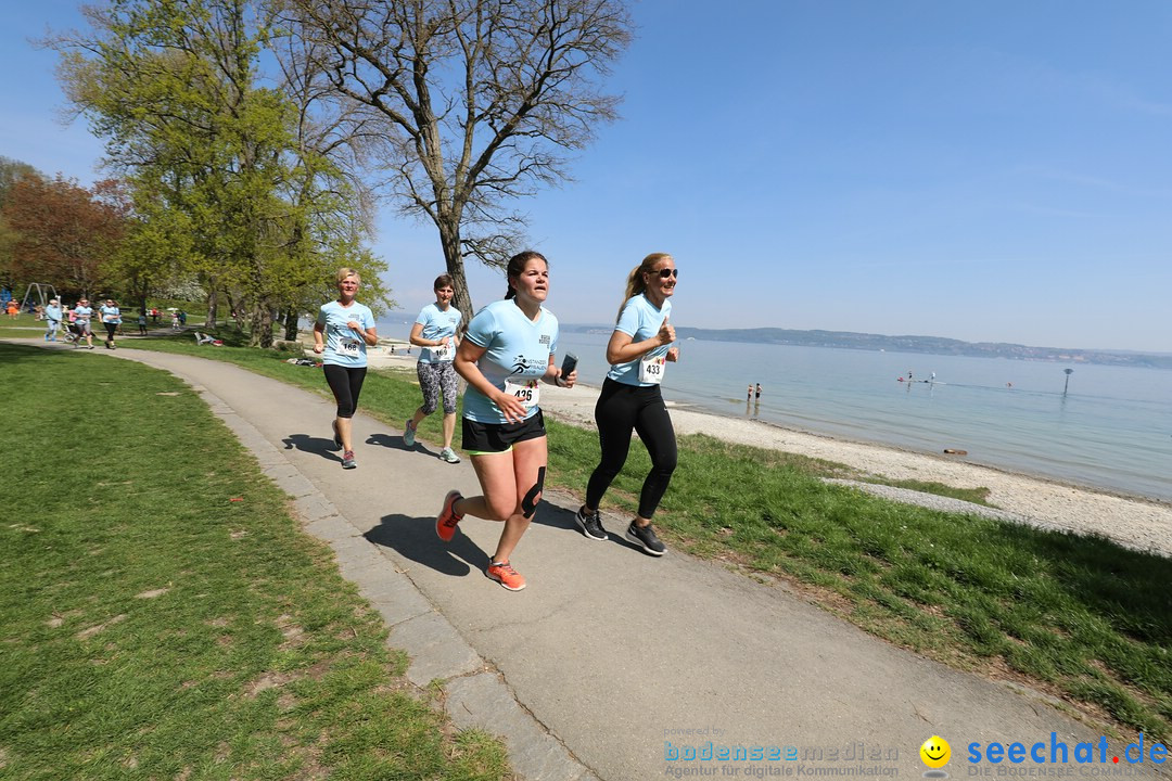
M 320 374 L 273 352 L 150 340 L 151 349 L 232 361 L 328 395 Z M 401 429 L 411 377 L 372 372 L 362 409 Z M 548 485 L 581 494 L 592 431 L 548 420 Z M 421 426 L 440 436 L 440 416 Z M 638 445 L 606 506 L 633 513 L 650 463 Z M 1028 683 L 1122 727 L 1172 737 L 1172 562 L 1109 540 L 901 505 L 823 477 L 841 465 L 683 437 L 656 515 L 673 547 L 757 577 L 781 577 L 829 610 L 965 670 Z M 900 484 L 894 484 L 900 485 Z M 911 485 L 981 501 L 983 489 Z

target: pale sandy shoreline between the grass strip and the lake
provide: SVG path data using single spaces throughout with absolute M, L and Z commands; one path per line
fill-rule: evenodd
M 380 347 L 368 356 L 373 369 L 411 369 L 417 348 L 406 355 L 406 344 L 396 344 L 395 355 Z M 541 409 L 567 423 L 594 427 L 594 400 L 598 389 L 543 386 Z M 730 443 L 781 450 L 837 461 L 868 475 L 892 480 L 926 480 L 961 488 L 989 488 L 989 502 L 1050 528 L 1079 534 L 1098 534 L 1129 548 L 1152 550 L 1172 557 L 1172 505 L 1129 498 L 1089 487 L 1064 485 L 1027 474 L 969 464 L 956 457 L 919 453 L 897 447 L 834 439 L 832 437 L 783 429 L 761 420 L 747 420 L 699 412 L 669 403 L 672 422 L 680 434 L 703 433 Z

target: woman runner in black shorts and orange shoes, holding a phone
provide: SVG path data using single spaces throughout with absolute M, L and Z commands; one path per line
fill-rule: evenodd
M 481 496 L 449 491 L 436 519 L 444 542 L 465 515 L 503 521 L 504 529 L 485 575 L 510 591 L 525 577 L 510 559 L 529 528 L 545 484 L 548 460 L 540 385 L 573 388 L 578 372 L 561 377 L 554 365 L 558 318 L 541 306 L 550 293 L 550 266 L 540 253 L 513 255 L 506 268 L 509 292 L 478 311 L 456 349 L 464 391 L 464 450 L 481 481 Z

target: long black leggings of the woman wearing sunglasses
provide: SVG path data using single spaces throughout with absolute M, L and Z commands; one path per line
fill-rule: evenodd
M 641 388 L 619 383 L 609 377 L 594 405 L 602 460 L 586 484 L 586 506 L 598 508 L 602 494 L 622 471 L 631 450 L 631 432 L 638 431 L 652 457 L 652 471 L 639 494 L 639 516 L 650 520 L 675 472 L 675 429 L 659 385 Z

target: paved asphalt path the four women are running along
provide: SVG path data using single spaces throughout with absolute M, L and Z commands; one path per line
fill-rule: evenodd
M 411 656 L 408 677 L 443 679 L 456 725 L 502 734 L 522 777 L 917 777 L 932 735 L 952 745 L 953 777 L 1168 777 L 1167 766 L 1111 765 L 1134 735 L 1110 741 L 1106 766 L 972 766 L 973 742 L 1043 741 L 1049 761 L 1051 732 L 1071 759 L 1079 741 L 1097 753 L 1103 732 L 1035 692 L 892 648 L 782 585 L 677 552 L 647 556 L 621 539 L 618 518 L 605 519 L 609 541 L 588 540 L 570 495 L 546 493 L 513 555 L 529 587 L 506 591 L 484 576 L 499 526 L 469 518 L 450 544 L 435 535 L 447 491 L 478 493 L 466 459 L 408 450 L 401 431 L 360 412 L 359 467 L 343 471 L 322 397 L 216 361 L 108 355 L 171 371 L 206 398 L 386 617 L 389 643 Z M 763 747 L 763 759 L 684 759 L 709 741 Z M 769 760 L 772 747 L 781 760 Z

